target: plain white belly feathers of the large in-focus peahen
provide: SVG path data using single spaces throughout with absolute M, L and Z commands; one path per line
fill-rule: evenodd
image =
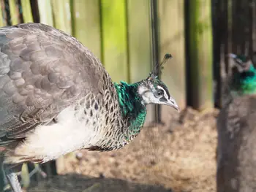
M 83 109 L 80 111 L 83 112 Z M 74 114 L 73 107 L 69 107 L 58 115 L 58 123 L 38 126 L 28 135 L 26 141 L 15 149 L 15 154 L 49 161 L 74 150 L 95 145 L 102 137 L 102 133 L 97 133 L 95 125 L 92 125 L 96 114 L 89 117 L 86 126 L 85 120 L 78 120 Z M 97 123 L 96 126 L 99 126 L 99 120 Z

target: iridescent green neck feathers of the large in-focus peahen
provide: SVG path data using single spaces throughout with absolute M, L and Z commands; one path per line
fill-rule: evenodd
M 128 84 L 121 81 L 121 84 L 115 83 L 118 94 L 119 107 L 122 116 L 127 120 L 129 130 L 127 139 L 140 133 L 140 129 L 146 120 L 146 106 L 142 103 L 142 98 L 138 93 L 140 82 Z

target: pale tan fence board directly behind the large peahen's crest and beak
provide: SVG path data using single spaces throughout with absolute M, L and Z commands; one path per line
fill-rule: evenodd
M 187 105 L 184 0 L 158 1 L 158 9 L 159 59 L 161 60 L 165 53 L 173 55 L 173 58 L 165 64 L 161 78 L 182 110 Z M 167 116 L 170 113 L 175 112 L 175 110 L 167 106 L 161 106 L 161 108 L 163 121 L 168 119 Z

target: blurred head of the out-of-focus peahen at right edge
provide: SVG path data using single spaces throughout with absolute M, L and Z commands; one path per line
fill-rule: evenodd
M 236 55 L 234 53 L 228 54 L 229 58 L 232 58 L 234 62 L 231 63 L 231 69 L 235 69 L 236 73 L 249 72 L 254 69 L 252 60 L 246 55 Z

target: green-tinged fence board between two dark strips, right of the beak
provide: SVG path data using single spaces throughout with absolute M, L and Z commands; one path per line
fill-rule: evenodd
M 189 93 L 196 110 L 213 107 L 211 1 L 188 1 Z

